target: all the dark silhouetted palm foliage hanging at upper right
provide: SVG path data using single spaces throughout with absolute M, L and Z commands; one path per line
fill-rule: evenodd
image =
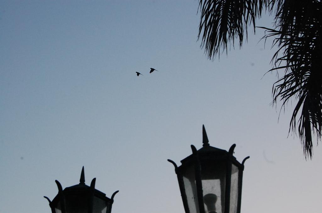
M 273 84 L 273 102 L 282 107 L 291 100 L 296 105 L 290 132 L 298 132 L 305 158 L 312 159 L 312 133 L 317 143 L 322 136 L 322 1 L 321 0 L 199 0 L 201 48 L 210 59 L 239 40 L 242 46 L 247 27 L 255 33 L 255 19 L 263 11 L 275 16 L 273 29 L 261 27 L 273 37 L 278 51 L 274 67 L 284 75 Z

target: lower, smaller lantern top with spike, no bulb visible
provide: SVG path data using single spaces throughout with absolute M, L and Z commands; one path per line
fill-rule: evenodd
M 84 166 L 81 171 L 80 183 L 62 190 L 60 182 L 55 180 L 58 187 L 58 194 L 50 201 L 49 206 L 52 213 L 111 213 L 115 191 L 111 198 L 106 197 L 105 193 L 95 189 L 94 178 L 90 186 L 85 184 Z M 105 210 L 106 209 L 106 210 Z

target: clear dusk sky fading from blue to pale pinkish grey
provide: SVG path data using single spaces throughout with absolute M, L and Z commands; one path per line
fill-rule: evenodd
M 96 177 L 112 212 L 184 212 L 174 167 L 209 143 L 245 162 L 241 212 L 319 212 L 322 151 L 271 106 L 276 48 L 251 28 L 207 59 L 198 1 L 0 2 L 0 213 L 48 212 L 47 196 Z M 270 27 L 263 15 L 257 26 Z M 159 72 L 149 74 L 150 67 Z M 135 72 L 143 75 L 136 76 Z M 282 74 L 282 73 L 280 73 Z

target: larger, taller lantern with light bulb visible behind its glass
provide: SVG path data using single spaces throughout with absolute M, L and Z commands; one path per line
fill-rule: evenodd
M 203 125 L 203 147 L 191 145 L 193 154 L 175 166 L 185 213 L 240 213 L 244 163 L 229 151 L 209 146 Z

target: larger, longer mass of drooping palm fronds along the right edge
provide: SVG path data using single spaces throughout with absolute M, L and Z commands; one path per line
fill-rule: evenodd
M 289 131 L 298 132 L 305 157 L 312 158 L 312 132 L 317 134 L 317 143 L 322 137 L 322 3 L 275 3 L 276 28 L 266 28 L 265 38 L 275 37 L 279 46 L 273 57 L 275 68 L 270 71 L 283 69 L 284 76 L 273 85 L 273 103 L 283 100 L 284 106 L 292 97 L 297 100 Z M 280 66 L 282 61 L 285 66 Z

